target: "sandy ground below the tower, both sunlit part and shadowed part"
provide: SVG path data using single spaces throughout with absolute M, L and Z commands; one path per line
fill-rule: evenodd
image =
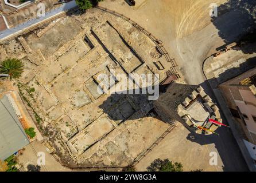
M 228 132 L 228 134 L 230 133 Z M 197 169 L 201 169 L 203 172 L 247 171 L 245 162 L 239 158 L 241 154 L 234 152 L 231 156 L 226 154 L 228 152 L 223 153 L 225 147 L 234 150 L 232 144 L 222 140 L 222 137 L 195 136 L 184 126 L 179 125 L 152 152 L 139 161 L 135 168 L 137 171 L 146 171 L 146 168 L 156 158 L 162 160 L 168 158 L 170 161 L 181 162 L 183 170 L 188 172 Z M 217 165 L 210 164 L 212 154 L 218 155 Z

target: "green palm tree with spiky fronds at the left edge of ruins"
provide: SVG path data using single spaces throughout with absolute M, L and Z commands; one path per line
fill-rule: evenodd
M 10 79 L 19 78 L 23 72 L 23 63 L 17 58 L 7 58 L 0 65 L 0 73 L 8 74 Z

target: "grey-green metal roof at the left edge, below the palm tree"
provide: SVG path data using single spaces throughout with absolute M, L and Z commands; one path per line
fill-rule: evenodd
M 0 99 L 0 160 L 29 144 L 28 137 L 8 98 Z

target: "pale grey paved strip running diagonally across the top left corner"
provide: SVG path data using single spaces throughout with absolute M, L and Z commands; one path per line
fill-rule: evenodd
M 36 25 L 37 23 L 40 23 L 41 21 L 44 21 L 45 19 L 51 18 L 59 13 L 62 13 L 63 11 L 72 9 L 73 7 L 76 7 L 75 0 L 70 1 L 68 3 L 64 3 L 57 9 L 46 12 L 45 17 L 38 17 L 36 19 L 31 19 L 28 22 L 22 23 L 16 27 L 11 28 L 11 29 L 6 29 L 3 31 L 0 31 L 0 41 L 3 38 L 9 37 L 11 34 L 18 33 L 19 31 L 27 29 L 30 26 Z

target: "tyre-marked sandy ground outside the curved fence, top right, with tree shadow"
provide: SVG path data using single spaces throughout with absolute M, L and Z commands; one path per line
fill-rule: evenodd
M 215 1 L 217 5 L 225 2 Z M 204 82 L 201 71 L 204 59 L 226 43 L 216 26 L 224 30 L 226 40 L 231 42 L 249 23 L 243 15 L 232 11 L 213 24 L 209 14 L 211 3 L 211 0 L 147 0 L 141 6 L 130 7 L 125 1 L 106 0 L 100 6 L 130 17 L 160 38 L 187 82 L 197 85 Z

